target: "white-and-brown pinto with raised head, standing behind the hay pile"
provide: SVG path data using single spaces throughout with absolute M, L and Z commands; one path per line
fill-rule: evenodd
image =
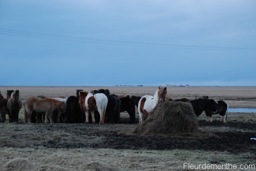
M 154 96 L 145 95 L 140 99 L 138 104 L 140 114 L 139 124 L 144 121 L 144 115 L 147 117 L 158 103 L 165 101 L 166 94 L 166 87 L 158 87 Z

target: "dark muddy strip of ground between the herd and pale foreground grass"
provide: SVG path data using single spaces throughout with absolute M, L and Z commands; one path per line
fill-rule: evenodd
M 0 147 L 13 148 L 109 148 L 109 149 L 147 149 L 147 150 L 206 150 L 230 153 L 256 153 L 256 124 L 219 121 L 211 124 L 199 121 L 199 128 L 218 127 L 220 131 L 211 132 L 212 137 L 178 136 L 137 136 L 120 132 L 132 132 L 136 124 L 0 124 Z M 240 128 L 241 131 L 223 132 L 221 128 Z

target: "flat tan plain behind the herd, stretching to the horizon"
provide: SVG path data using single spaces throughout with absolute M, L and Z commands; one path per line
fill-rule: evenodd
M 43 95 L 46 97 L 72 96 L 76 89 L 84 91 L 109 89 L 114 94 L 131 94 L 135 96 L 154 95 L 158 87 L 34 87 L 34 86 L 0 86 L 1 94 L 5 97 L 6 90 L 20 90 L 21 100 L 28 97 Z M 226 101 L 230 108 L 256 108 L 256 87 L 167 87 L 167 97 L 172 99 L 188 98 L 207 95 L 214 100 Z

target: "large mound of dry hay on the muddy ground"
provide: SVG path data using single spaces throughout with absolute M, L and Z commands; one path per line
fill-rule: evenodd
M 165 101 L 134 130 L 139 135 L 198 133 L 197 117 L 190 103 Z

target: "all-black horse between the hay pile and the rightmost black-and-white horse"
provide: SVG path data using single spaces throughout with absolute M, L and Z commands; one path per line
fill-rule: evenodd
M 201 115 L 203 111 L 217 112 L 216 102 L 213 99 L 195 99 L 190 101 L 193 110 L 197 116 Z

